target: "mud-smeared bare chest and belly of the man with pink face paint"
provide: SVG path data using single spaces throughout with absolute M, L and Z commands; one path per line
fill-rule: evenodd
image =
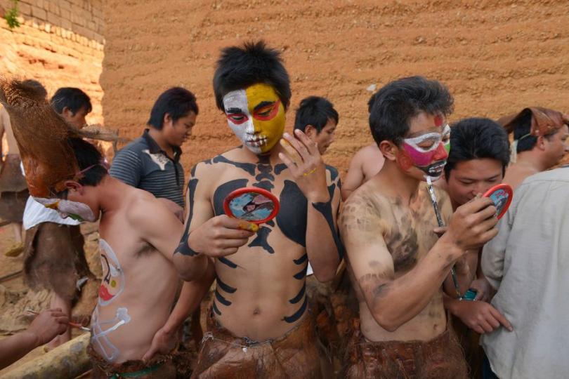
M 440 194 L 441 192 L 438 192 Z M 438 237 L 433 229 L 438 227 L 436 215 L 426 185 L 419 185 L 417 199 L 411 204 L 403 204 L 400 197 L 383 197 L 369 191 L 348 206 L 366 208 L 369 228 L 384 230 L 384 241 L 393 259 L 395 279 L 403 277 L 420 262 Z M 441 204 L 448 201 L 441 196 Z M 370 262 L 373 265 L 374 262 Z M 446 316 L 443 307 L 442 288 L 431 302 L 413 319 L 400 326 L 397 331 L 388 332 L 381 328 L 369 312 L 365 298 L 350 270 L 351 280 L 355 283 L 355 292 L 360 302 L 360 319 L 362 333 L 369 340 L 429 340 L 436 337 L 446 328 Z

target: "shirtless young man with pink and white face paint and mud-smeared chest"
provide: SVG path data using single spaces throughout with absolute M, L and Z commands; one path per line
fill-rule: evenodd
M 448 228 L 440 239 L 433 231 L 438 224 L 424 180 L 443 173 L 451 109 L 447 88 L 422 77 L 392 81 L 377 93 L 369 124 L 386 161 L 346 201 L 339 221 L 360 301 L 348 378 L 466 377 L 442 285 L 452 265 L 468 274 L 462 257 L 497 234 L 497 220 L 488 198 L 450 218 L 447 195 L 436 191 Z

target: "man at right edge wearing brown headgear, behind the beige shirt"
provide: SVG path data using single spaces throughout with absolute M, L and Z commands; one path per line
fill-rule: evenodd
M 525 178 L 555 166 L 569 151 L 569 116 L 553 109 L 530 107 L 498 120 L 514 133 L 516 152 L 504 182 L 516 189 Z

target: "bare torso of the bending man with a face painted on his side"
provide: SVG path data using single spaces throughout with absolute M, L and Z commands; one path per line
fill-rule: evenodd
M 113 362 L 143 357 L 169 317 L 178 286 L 172 262 L 148 244 L 129 214 L 135 207 L 150 211 L 157 200 L 148 192 L 127 188 L 121 206 L 103 213 L 99 225 L 103 281 L 93 312 L 91 342 L 103 358 Z M 181 235 L 178 224 L 179 230 L 171 230 L 171 251 Z

